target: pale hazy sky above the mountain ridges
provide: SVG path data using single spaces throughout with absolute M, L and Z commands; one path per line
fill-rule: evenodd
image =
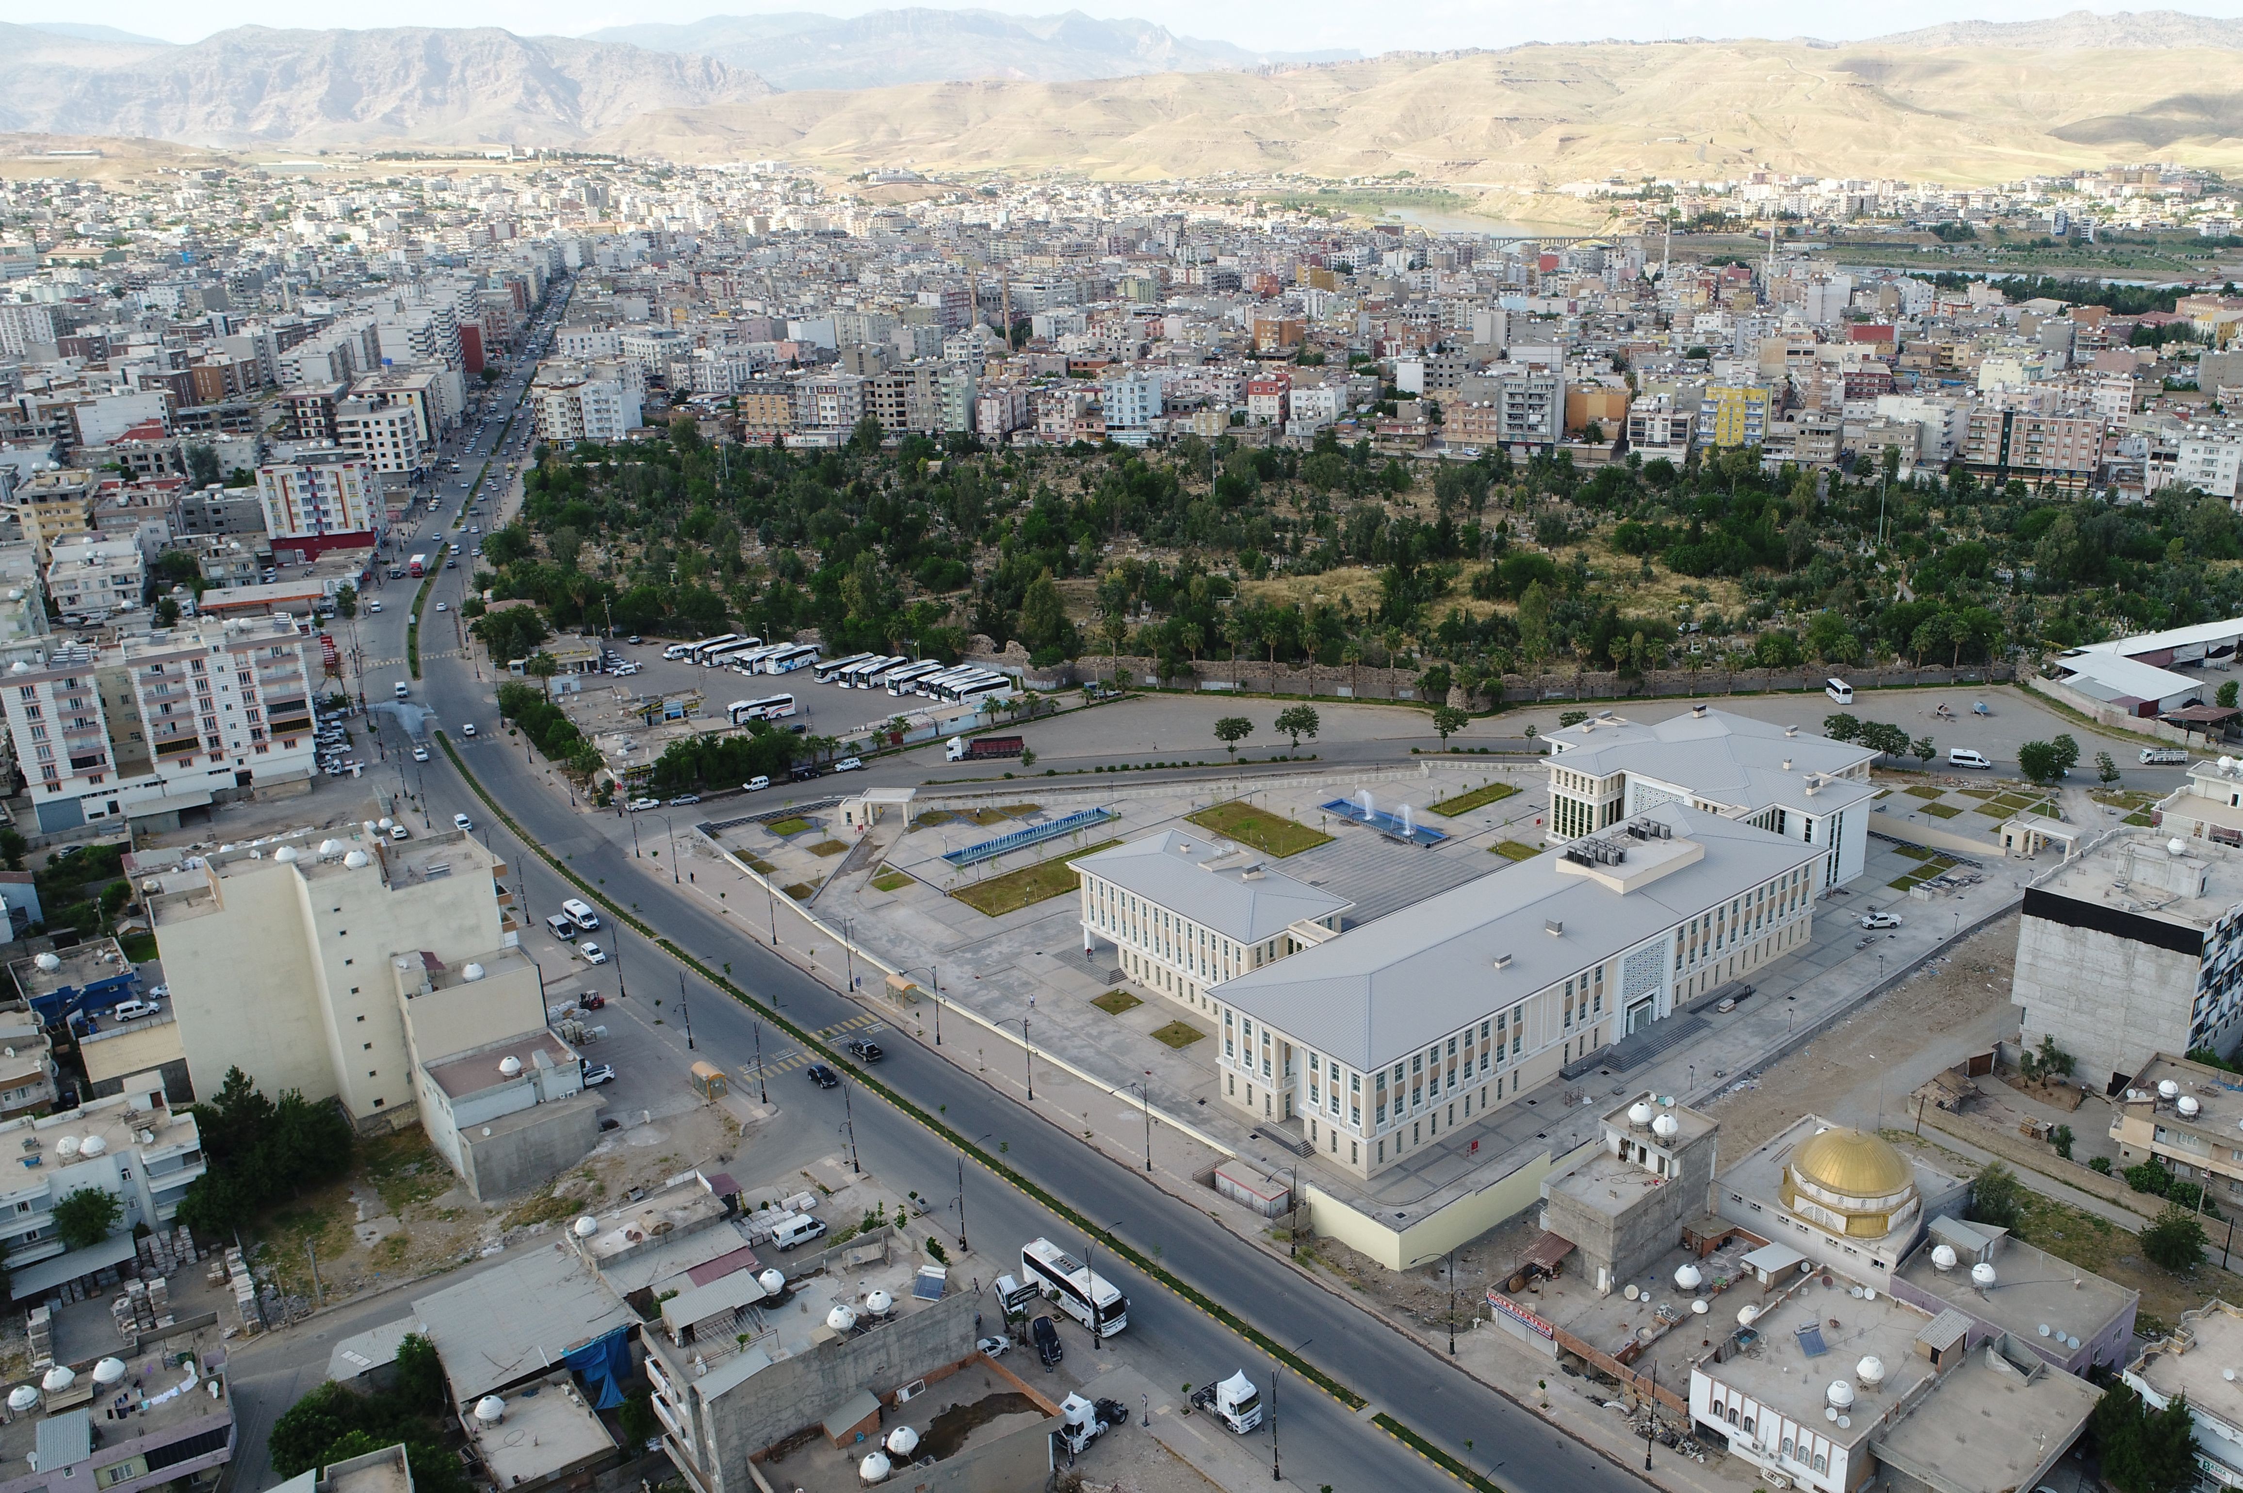
M 579 36 L 610 25 L 689 22 L 709 13 L 738 16 L 765 11 L 823 11 L 855 16 L 890 9 L 906 0 L 839 2 L 819 0 L 686 0 L 684 4 L 633 4 L 630 0 L 390 0 L 379 7 L 379 25 L 493 25 L 520 34 Z M 958 9 L 958 7 L 944 7 Z M 1054 4 L 985 4 L 980 9 L 1016 13 L 1052 13 Z M 1976 0 L 1956 7 L 1940 0 L 1889 0 L 1886 4 L 1837 4 L 1835 0 L 1608 0 L 1597 7 L 1485 4 L 1474 0 L 1422 0 L 1402 9 L 1364 7 L 1353 0 L 1088 0 L 1079 9 L 1092 16 L 1142 16 L 1182 36 L 1209 36 L 1254 47 L 1317 49 L 1357 47 L 1391 52 L 1397 47 L 1510 47 L 1530 40 L 1664 40 L 1678 36 L 1819 36 L 1850 40 L 1927 27 L 1963 16 L 1981 20 L 2034 20 L 2059 16 L 2077 4 L 2061 0 Z M 2149 9 L 2093 7 L 2093 9 Z M 2212 0 L 2187 7 L 2200 16 L 2243 13 L 2243 0 Z M 123 31 L 197 40 L 233 25 L 316 27 L 334 25 L 332 11 L 307 11 L 298 0 L 206 0 L 182 7 L 175 0 L 108 0 L 87 11 L 47 11 L 54 18 L 112 25 Z M 363 20 L 366 11 L 357 11 Z

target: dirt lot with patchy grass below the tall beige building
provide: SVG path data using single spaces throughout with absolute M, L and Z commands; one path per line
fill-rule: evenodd
M 336 1302 L 496 1253 L 635 1186 L 727 1159 L 738 1139 L 738 1121 L 713 1107 L 626 1123 L 552 1186 L 482 1204 L 415 1125 L 363 1143 L 350 1177 L 276 1208 L 244 1237 L 258 1249 L 258 1267 L 305 1300 L 316 1251 L 323 1300 Z

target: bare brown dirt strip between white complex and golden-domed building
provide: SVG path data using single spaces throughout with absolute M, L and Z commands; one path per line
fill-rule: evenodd
M 1875 1125 L 1880 1074 L 1884 1116 L 1891 1121 L 1916 1085 L 1965 1054 L 1985 1051 L 1996 1031 L 2014 1027 L 2014 966 L 2012 915 L 1767 1072 L 1732 1085 L 1709 1105 L 1720 1121 L 1720 1154 L 1750 1154 L 1808 1112 Z

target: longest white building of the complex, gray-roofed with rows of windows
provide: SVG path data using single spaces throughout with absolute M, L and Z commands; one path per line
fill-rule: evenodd
M 1801 948 L 1824 859 L 1660 803 L 1216 984 L 1220 1096 L 1375 1175 Z

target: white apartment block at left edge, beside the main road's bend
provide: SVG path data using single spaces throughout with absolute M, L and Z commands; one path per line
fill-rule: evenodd
M 314 771 L 312 675 L 285 616 L 18 648 L 0 677 L 40 834 L 179 812 Z

